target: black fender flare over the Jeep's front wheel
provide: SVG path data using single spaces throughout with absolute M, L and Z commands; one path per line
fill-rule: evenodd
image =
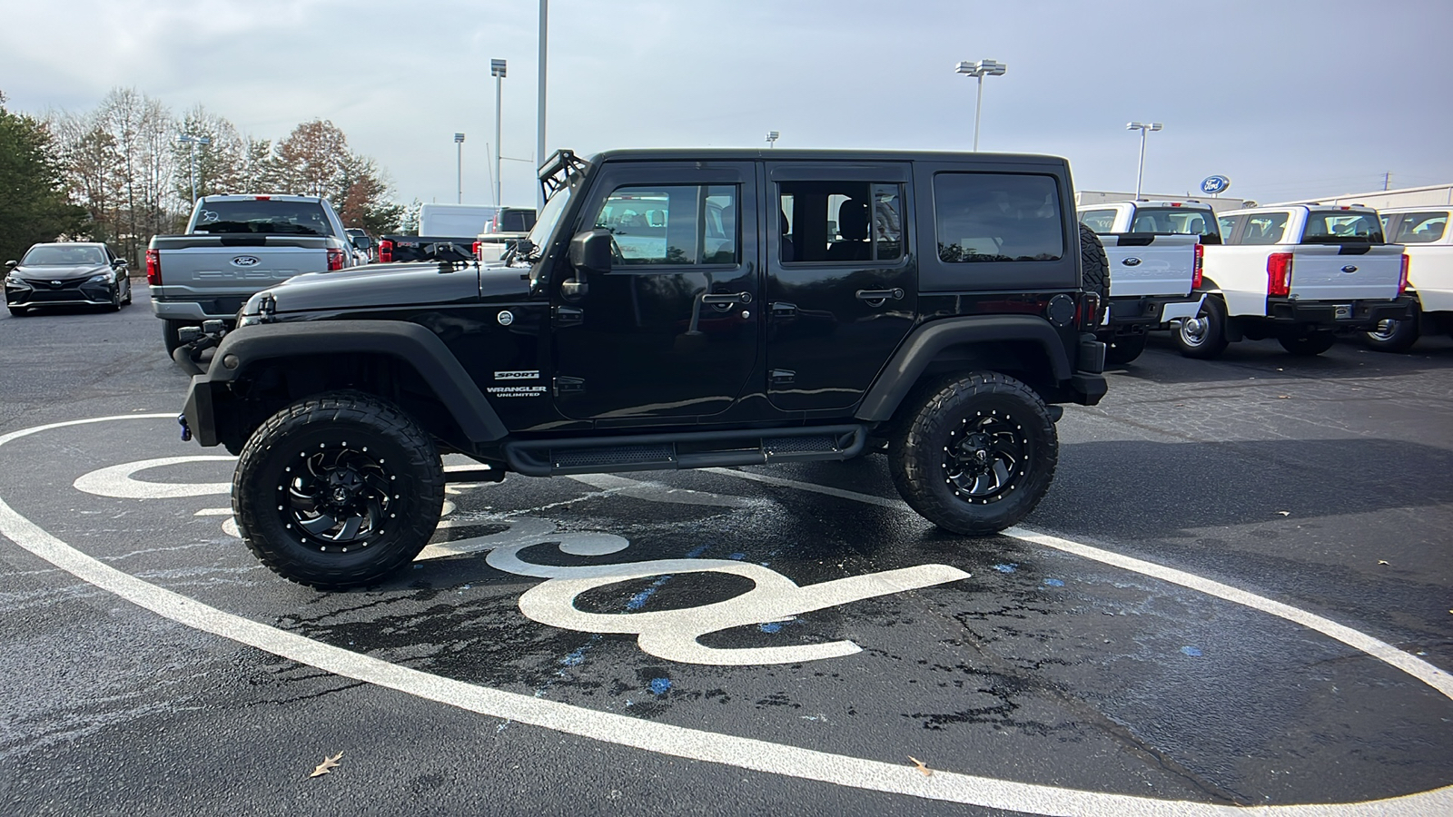
M 227 333 L 208 372 L 193 378 L 192 391 L 196 394 L 199 388 L 211 391 L 211 387 L 227 385 L 262 361 L 350 353 L 385 355 L 411 366 L 434 390 L 469 440 L 494 442 L 509 436 L 509 429 L 479 385 L 445 342 L 408 321 L 325 320 L 241 327 Z M 211 426 L 211 417 L 198 420 Z

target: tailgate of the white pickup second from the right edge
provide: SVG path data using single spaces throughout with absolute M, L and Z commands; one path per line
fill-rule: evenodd
M 1292 251 L 1292 298 L 1391 301 L 1402 278 L 1402 244 L 1298 246 Z

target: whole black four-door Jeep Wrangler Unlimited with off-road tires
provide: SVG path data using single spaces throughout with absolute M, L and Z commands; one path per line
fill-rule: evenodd
M 1104 394 L 1107 265 L 1064 158 L 559 151 L 541 183 L 503 266 L 294 278 L 193 377 L 183 439 L 241 455 L 267 567 L 375 581 L 452 478 L 872 451 L 917 512 L 992 534 L 1049 487 L 1056 404 Z M 479 467 L 446 474 L 450 452 Z

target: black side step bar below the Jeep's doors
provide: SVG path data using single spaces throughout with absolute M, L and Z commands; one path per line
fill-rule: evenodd
M 504 443 L 510 470 L 527 477 L 721 468 L 849 459 L 867 445 L 865 426 L 741 429 Z

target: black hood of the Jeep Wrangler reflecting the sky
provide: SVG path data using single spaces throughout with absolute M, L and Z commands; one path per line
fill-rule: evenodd
M 369 310 L 410 305 L 443 307 L 450 304 L 472 304 L 485 295 L 523 295 L 527 283 L 520 281 L 520 270 L 511 270 L 509 288 L 501 286 L 500 272 L 479 270 L 474 266 L 455 272 L 439 272 L 437 263 L 386 263 L 355 266 L 337 272 L 309 272 L 289 278 L 269 289 L 276 301 L 278 314 Z M 487 286 L 482 286 L 485 285 Z

